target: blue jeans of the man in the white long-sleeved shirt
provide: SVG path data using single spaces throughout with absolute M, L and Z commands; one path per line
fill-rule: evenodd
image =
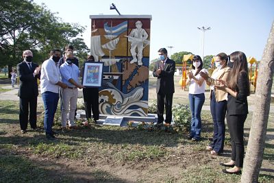
M 58 106 L 59 94 L 47 91 L 45 93 L 42 93 L 42 99 L 44 101 L 44 108 L 45 108 L 45 119 L 44 119 L 45 132 L 46 134 L 52 135 L 52 124 L 53 124 L 54 114 Z

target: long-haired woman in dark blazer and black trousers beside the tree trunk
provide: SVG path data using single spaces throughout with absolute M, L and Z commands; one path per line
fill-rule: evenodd
M 224 173 L 238 174 L 242 168 L 244 159 L 244 123 L 247 119 L 247 96 L 249 90 L 249 71 L 247 57 L 241 51 L 230 54 L 230 62 L 233 63 L 229 72 L 227 84 L 223 80 L 220 86 L 215 86 L 228 93 L 227 96 L 227 126 L 232 143 L 232 158 L 227 163 L 221 163 L 230 169 L 223 169 Z

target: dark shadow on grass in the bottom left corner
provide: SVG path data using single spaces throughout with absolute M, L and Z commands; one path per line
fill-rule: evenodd
M 54 168 L 53 168 L 54 167 Z M 29 171 L 32 170 L 32 171 Z M 63 170 L 63 171 L 60 171 Z M 0 182 L 127 182 L 107 171 L 78 171 L 67 164 L 0 154 Z

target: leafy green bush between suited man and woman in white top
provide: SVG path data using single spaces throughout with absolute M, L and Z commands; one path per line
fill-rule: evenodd
M 189 106 L 184 104 L 175 104 L 172 108 L 172 112 L 176 131 L 188 132 L 191 121 Z

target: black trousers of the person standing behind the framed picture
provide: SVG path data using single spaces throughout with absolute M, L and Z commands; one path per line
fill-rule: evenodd
M 83 96 L 85 103 L 86 119 L 91 118 L 91 110 L 93 119 L 99 119 L 99 88 L 83 88 Z

